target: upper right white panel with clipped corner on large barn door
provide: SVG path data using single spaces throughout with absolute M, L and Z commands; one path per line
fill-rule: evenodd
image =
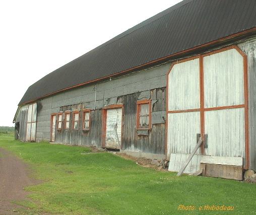
M 242 55 L 230 49 L 203 60 L 205 107 L 244 104 Z

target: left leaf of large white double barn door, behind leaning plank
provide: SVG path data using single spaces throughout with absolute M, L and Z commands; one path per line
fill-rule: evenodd
M 178 171 L 196 146 L 197 133 L 201 133 L 199 58 L 172 66 L 168 75 L 167 114 L 167 156 L 171 157 L 170 168 Z M 192 167 L 190 164 L 185 172 L 197 169 L 197 163 L 193 160 Z

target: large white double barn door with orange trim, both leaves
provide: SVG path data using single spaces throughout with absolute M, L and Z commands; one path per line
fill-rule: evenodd
M 236 46 L 172 64 L 167 81 L 167 156 L 173 171 L 193 151 L 197 135 L 205 141 L 185 173 L 198 170 L 202 155 L 248 162 L 246 72 L 246 56 Z

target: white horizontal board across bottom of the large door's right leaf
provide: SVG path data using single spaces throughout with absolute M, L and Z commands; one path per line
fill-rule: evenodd
M 243 165 L 243 158 L 241 158 L 241 157 L 219 157 L 219 156 L 203 155 L 201 157 L 200 163 L 222 164 L 222 165 L 230 165 L 230 166 L 242 166 Z

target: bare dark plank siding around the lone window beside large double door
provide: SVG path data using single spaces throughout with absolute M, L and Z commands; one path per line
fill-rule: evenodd
M 165 97 L 166 89 L 125 95 L 118 98 L 124 104 L 122 150 L 151 154 L 165 153 Z M 152 99 L 152 128 L 140 131 L 136 128 L 137 101 Z

